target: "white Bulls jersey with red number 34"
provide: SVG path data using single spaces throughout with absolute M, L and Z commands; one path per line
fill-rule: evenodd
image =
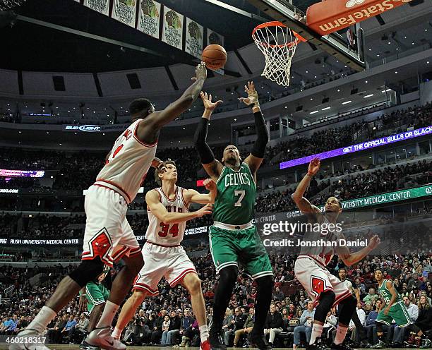
M 159 194 L 160 203 L 167 208 L 167 212 L 188 212 L 188 205 L 186 205 L 183 198 L 184 188 L 176 186 L 176 198 L 169 200 L 162 191 L 161 187 L 155 188 Z M 151 243 L 159 244 L 160 246 L 178 246 L 183 241 L 184 230 L 186 229 L 186 222 L 176 222 L 174 224 L 164 224 L 160 219 L 147 208 L 148 214 L 148 228 L 145 234 L 145 239 Z

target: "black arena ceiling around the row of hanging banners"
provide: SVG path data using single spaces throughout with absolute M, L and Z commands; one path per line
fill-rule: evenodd
M 260 23 L 203 0 L 160 2 L 224 35 L 224 47 L 227 51 L 250 44 L 251 32 Z M 258 14 L 258 10 L 246 0 L 224 2 Z M 181 50 L 73 0 L 28 0 L 15 10 L 21 16 L 152 49 L 161 56 L 121 49 L 116 44 L 17 20 L 12 28 L 7 26 L 0 29 L 1 42 L 6 52 L 0 56 L 0 68 L 22 71 L 102 72 L 167 66 L 180 62 L 193 63 L 192 56 Z

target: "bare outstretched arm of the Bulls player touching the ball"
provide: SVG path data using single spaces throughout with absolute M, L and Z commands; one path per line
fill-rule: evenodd
M 169 104 L 162 111 L 155 111 L 147 116 L 138 125 L 137 135 L 140 140 L 148 142 L 148 138 L 153 137 L 162 126 L 176 119 L 180 114 L 186 111 L 193 102 L 198 98 L 200 91 L 203 89 L 205 79 L 207 78 L 207 68 L 205 63 L 201 62 L 195 68 L 196 77 L 192 78 L 195 82 L 189 86 L 179 99 Z

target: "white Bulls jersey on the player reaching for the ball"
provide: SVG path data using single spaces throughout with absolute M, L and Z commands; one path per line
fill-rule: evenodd
M 117 138 L 95 182 L 95 185 L 112 188 L 127 203 L 136 197 L 156 154 L 157 143 L 147 145 L 138 140 L 136 128 L 142 120 L 134 121 Z

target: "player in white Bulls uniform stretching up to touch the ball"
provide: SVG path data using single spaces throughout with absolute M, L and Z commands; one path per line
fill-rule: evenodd
M 87 220 L 83 261 L 61 280 L 35 319 L 18 333 L 18 338 L 23 341 L 11 344 L 10 350 L 47 350 L 47 346 L 35 343 L 33 339 L 44 332 L 48 323 L 83 286 L 102 272 L 104 264 L 111 267 L 115 260 L 121 258 L 125 266 L 114 279 L 102 316 L 95 330 L 85 338 L 85 343 L 106 350 L 126 349 L 126 345 L 111 337 L 111 324 L 133 279 L 143 267 L 140 246 L 126 219 L 126 212 L 153 162 L 160 129 L 191 107 L 203 88 L 207 78 L 203 62 L 196 67 L 195 73 L 195 83 L 162 111 L 155 111 L 148 99 L 131 102 L 128 110 L 132 124 L 117 138 L 105 166 L 85 196 Z

